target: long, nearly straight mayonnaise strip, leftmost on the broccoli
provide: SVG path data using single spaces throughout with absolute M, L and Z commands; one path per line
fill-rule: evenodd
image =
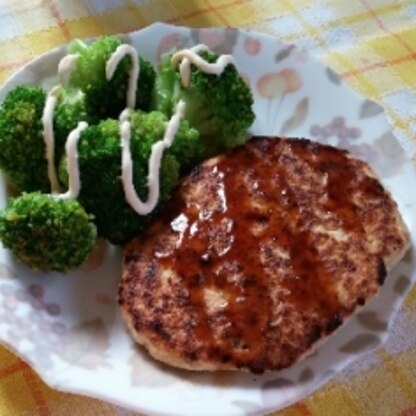
M 46 147 L 46 161 L 48 165 L 48 178 L 51 183 L 51 193 L 55 194 L 59 192 L 58 175 L 55 169 L 55 137 L 53 134 L 53 113 L 55 111 L 56 103 L 58 101 L 58 95 L 60 92 L 60 86 L 53 87 L 45 102 L 43 108 L 42 124 L 43 124 L 43 140 Z

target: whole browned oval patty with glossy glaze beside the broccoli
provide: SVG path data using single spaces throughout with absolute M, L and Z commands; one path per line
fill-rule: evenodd
M 279 370 L 375 296 L 409 240 L 365 162 L 254 138 L 197 167 L 125 247 L 118 301 L 169 365 Z

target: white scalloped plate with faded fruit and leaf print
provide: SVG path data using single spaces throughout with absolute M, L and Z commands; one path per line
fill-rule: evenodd
M 312 137 L 367 159 L 397 200 L 414 242 L 415 170 L 382 108 L 352 92 L 331 70 L 291 45 L 241 30 L 156 24 L 126 39 L 153 63 L 173 46 L 200 42 L 232 53 L 254 93 L 253 133 Z M 51 86 L 64 54 L 64 48 L 56 49 L 26 65 L 4 85 L 0 99 L 18 84 Z M 2 206 L 5 195 L 3 189 Z M 100 245 L 87 265 L 64 277 L 35 273 L 2 249 L 0 340 L 59 390 L 148 414 L 259 414 L 304 398 L 358 354 L 384 342 L 415 270 L 412 249 L 376 300 L 290 369 L 262 376 L 195 374 L 162 366 L 134 346 L 115 302 L 117 250 Z

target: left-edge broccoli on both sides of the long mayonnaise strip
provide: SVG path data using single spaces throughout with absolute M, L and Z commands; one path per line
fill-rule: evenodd
M 0 108 L 0 168 L 20 191 L 50 190 L 42 124 L 45 102 L 42 88 L 22 85 L 6 96 Z M 83 94 L 60 90 L 54 113 L 57 165 L 69 132 L 81 120 L 90 121 Z

